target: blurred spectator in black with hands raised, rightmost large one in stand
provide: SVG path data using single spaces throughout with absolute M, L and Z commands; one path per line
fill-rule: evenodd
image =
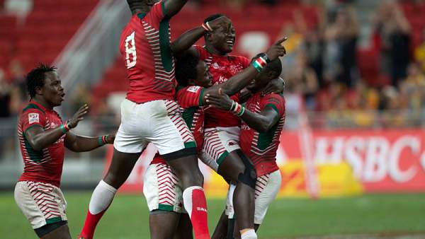
M 398 86 L 406 78 L 410 62 L 409 22 L 397 4 L 383 1 L 375 25 L 380 36 L 381 71 L 390 76 L 393 86 Z

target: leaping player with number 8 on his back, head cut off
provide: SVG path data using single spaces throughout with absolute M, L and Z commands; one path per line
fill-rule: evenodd
M 96 224 L 149 142 L 179 177 L 183 206 L 191 217 L 195 237 L 210 238 L 196 143 L 174 100 L 173 54 L 180 49 L 170 45 L 169 21 L 187 0 L 127 1 L 132 18 L 121 34 L 120 52 L 130 90 L 121 104 L 111 166 L 92 194 L 80 238 L 93 238 Z

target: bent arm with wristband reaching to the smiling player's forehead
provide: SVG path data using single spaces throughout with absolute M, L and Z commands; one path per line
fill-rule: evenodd
M 206 33 L 212 32 L 217 28 L 229 28 L 230 20 L 226 16 L 221 16 L 212 21 L 208 21 L 200 25 L 198 28 L 193 28 L 180 35 L 174 42 L 171 42 L 171 51 L 175 55 L 190 51 L 198 55 L 199 53 L 192 46 L 196 41 L 203 37 Z

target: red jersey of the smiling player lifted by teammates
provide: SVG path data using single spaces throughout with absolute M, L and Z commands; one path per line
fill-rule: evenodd
M 249 66 L 250 61 L 246 57 L 219 56 L 211 54 L 205 47 L 195 45 L 195 48 L 199 52 L 200 59 L 208 65 L 208 70 L 212 74 L 212 83 L 215 85 L 227 81 Z M 231 98 L 239 101 L 237 95 L 232 95 Z M 219 110 L 216 107 L 205 110 L 205 128 L 235 126 L 239 126 L 239 118 L 232 112 Z

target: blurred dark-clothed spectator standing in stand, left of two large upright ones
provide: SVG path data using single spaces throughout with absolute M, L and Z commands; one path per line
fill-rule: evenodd
M 353 8 L 343 6 L 336 11 L 333 23 L 325 29 L 326 72 L 331 80 L 344 83 L 347 87 L 354 85 L 358 78 L 356 47 L 358 39 L 358 22 Z

